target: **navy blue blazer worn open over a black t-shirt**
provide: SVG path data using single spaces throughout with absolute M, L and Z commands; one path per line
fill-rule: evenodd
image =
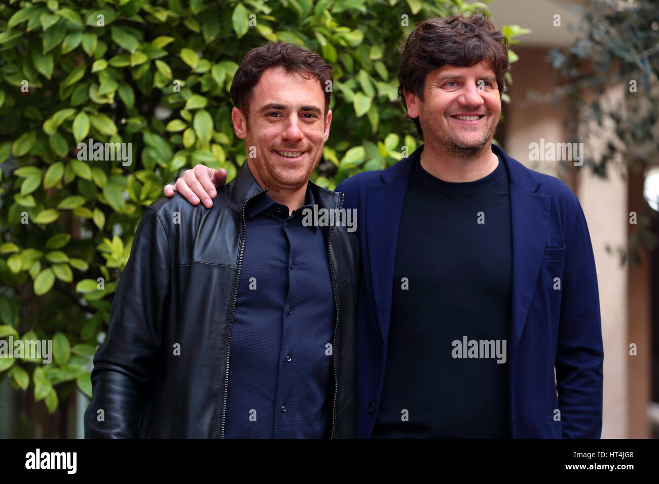
M 357 209 L 362 250 L 357 329 L 360 438 L 370 437 L 380 403 L 398 228 L 411 168 L 422 149 L 386 170 L 358 173 L 336 188 L 345 193 L 345 207 Z M 496 145 L 492 151 L 503 159 L 510 183 L 511 435 L 598 439 L 604 349 L 595 261 L 583 210 L 558 178 L 528 169 Z

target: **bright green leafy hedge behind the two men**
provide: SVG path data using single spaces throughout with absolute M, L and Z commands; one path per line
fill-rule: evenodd
M 416 148 L 397 99 L 397 46 L 461 0 L 9 0 L 0 5 L 0 338 L 53 340 L 53 363 L 0 358 L 49 413 L 90 361 L 144 207 L 184 167 L 245 159 L 229 88 L 244 54 L 287 41 L 335 67 L 327 188 Z M 513 38 L 519 26 L 503 28 Z M 515 54 L 510 51 L 511 61 Z M 510 78 L 509 78 L 510 81 Z M 507 100 L 507 99 L 504 99 Z M 78 142 L 132 144 L 132 163 L 80 161 Z M 406 148 L 403 148 L 406 147 Z M 11 348 L 10 348 L 11 350 Z

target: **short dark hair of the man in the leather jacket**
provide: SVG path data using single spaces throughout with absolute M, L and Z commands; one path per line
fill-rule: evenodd
M 250 50 L 233 76 L 229 94 L 233 104 L 245 117 L 248 115 L 254 86 L 268 68 L 278 66 L 284 67 L 287 72 L 297 72 L 305 79 L 318 80 L 325 93 L 325 114 L 327 114 L 332 90 L 326 89 L 326 86 L 327 81 L 330 86 L 333 83 L 334 68 L 325 63 L 320 54 L 314 51 L 293 43 L 277 41 Z

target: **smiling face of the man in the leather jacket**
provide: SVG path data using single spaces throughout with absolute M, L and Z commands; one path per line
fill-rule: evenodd
M 248 121 L 236 107 L 231 118 L 237 136 L 245 140 L 256 181 L 285 192 L 306 186 L 331 124 L 331 111 L 324 115 L 320 82 L 283 67 L 269 68 L 254 86 L 248 109 Z

